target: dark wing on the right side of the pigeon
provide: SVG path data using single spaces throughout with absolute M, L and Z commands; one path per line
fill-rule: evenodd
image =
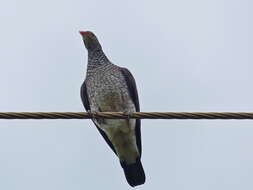
M 121 67 L 120 71 L 126 80 L 128 92 L 130 94 L 130 97 L 132 98 L 134 105 L 135 105 L 136 112 L 139 112 L 140 111 L 140 104 L 139 104 L 138 92 L 137 92 L 137 87 L 136 87 L 134 77 L 130 73 L 130 71 L 126 68 Z M 141 155 L 142 148 L 141 148 L 141 129 L 140 129 L 140 127 L 141 127 L 141 120 L 136 119 L 135 136 L 136 136 L 137 147 L 138 147 L 139 153 Z

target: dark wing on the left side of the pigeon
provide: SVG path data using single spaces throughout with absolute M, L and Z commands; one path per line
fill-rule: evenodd
M 89 98 L 88 98 L 88 94 L 87 94 L 87 88 L 86 88 L 86 84 L 85 82 L 83 82 L 82 86 L 81 86 L 81 99 L 83 102 L 83 105 L 86 109 L 86 111 L 90 111 L 90 103 L 89 103 Z M 105 134 L 105 132 L 103 130 L 101 130 L 96 122 L 93 122 L 95 124 L 95 126 L 97 127 L 98 131 L 100 132 L 100 134 L 103 136 L 103 138 L 105 139 L 105 141 L 107 142 L 107 144 L 110 146 L 110 148 L 113 150 L 113 152 L 116 154 L 116 151 L 111 143 L 111 141 L 109 140 L 109 138 L 107 137 L 107 135 Z

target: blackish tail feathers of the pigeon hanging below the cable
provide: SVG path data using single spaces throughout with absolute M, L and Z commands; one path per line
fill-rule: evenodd
M 120 162 L 120 164 L 129 185 L 134 187 L 145 183 L 146 177 L 140 159 L 137 159 L 134 164 L 126 164 L 125 162 Z

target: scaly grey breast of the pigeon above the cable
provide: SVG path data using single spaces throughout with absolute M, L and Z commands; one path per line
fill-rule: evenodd
M 117 66 L 97 68 L 86 84 L 92 111 L 129 111 L 132 107 L 125 79 Z

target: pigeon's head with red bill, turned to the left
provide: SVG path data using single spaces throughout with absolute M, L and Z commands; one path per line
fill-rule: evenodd
M 88 51 L 102 49 L 97 37 L 90 31 L 79 32 L 83 38 L 84 45 Z

